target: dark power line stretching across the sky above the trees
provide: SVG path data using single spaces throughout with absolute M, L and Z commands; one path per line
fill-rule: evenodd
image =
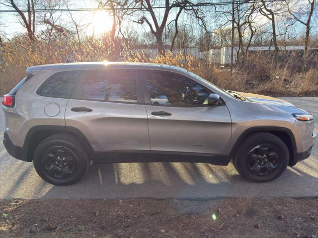
M 264 0 L 264 2 L 278 2 L 278 1 L 284 1 L 284 0 Z M 261 0 L 235 0 L 234 3 L 260 3 L 262 2 Z M 196 3 L 192 5 L 174 5 L 171 8 L 175 7 L 203 7 L 203 6 L 219 6 L 219 5 L 230 5 L 232 4 L 232 1 L 223 1 L 223 2 L 206 2 L 206 3 Z M 153 6 L 152 9 L 160 9 L 160 8 L 166 8 L 165 6 Z M 116 10 L 147 10 L 148 7 L 115 7 Z M 28 9 L 20 9 L 21 12 L 28 12 L 28 11 L 34 11 L 34 12 L 63 12 L 63 11 L 107 11 L 107 10 L 112 10 L 112 8 L 60 8 L 60 9 L 54 9 L 54 8 L 49 8 L 49 9 L 34 9 L 34 10 L 28 10 Z M 7 13 L 7 12 L 16 12 L 15 9 L 3 9 L 0 10 L 0 13 Z

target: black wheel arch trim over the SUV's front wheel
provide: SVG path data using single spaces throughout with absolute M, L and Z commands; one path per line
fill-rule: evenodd
M 282 139 L 283 142 L 286 144 L 289 150 L 289 166 L 294 166 L 296 164 L 295 160 L 295 153 L 296 153 L 296 140 L 294 137 L 293 132 L 286 128 L 286 127 L 279 127 L 279 126 L 261 126 L 261 127 L 251 127 L 243 131 L 239 135 L 239 138 L 235 142 L 234 146 L 231 149 L 231 158 L 234 158 L 236 152 L 239 149 L 239 145 L 243 142 L 247 136 L 255 132 L 268 132 L 273 135 L 276 135 L 278 138 Z

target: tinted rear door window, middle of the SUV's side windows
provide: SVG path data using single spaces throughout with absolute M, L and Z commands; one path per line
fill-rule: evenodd
M 134 72 L 87 71 L 82 75 L 82 99 L 137 103 Z

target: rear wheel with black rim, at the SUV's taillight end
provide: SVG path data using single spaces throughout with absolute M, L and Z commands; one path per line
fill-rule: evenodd
M 36 147 L 33 165 L 45 181 L 54 185 L 70 185 L 86 174 L 89 159 L 76 137 L 56 134 L 46 138 Z

